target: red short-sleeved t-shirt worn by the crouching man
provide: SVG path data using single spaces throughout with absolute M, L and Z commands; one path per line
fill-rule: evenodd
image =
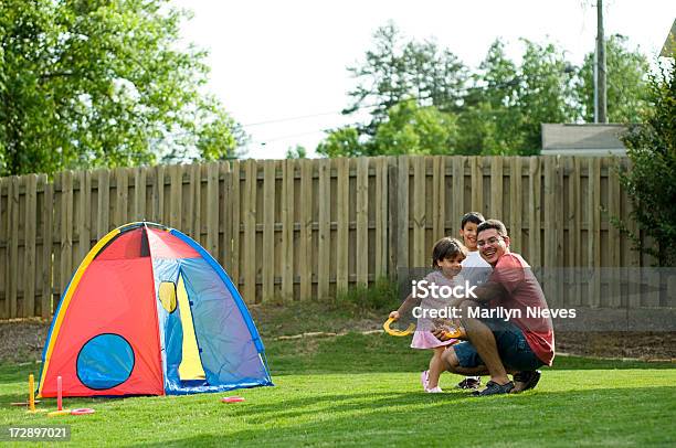
M 551 365 L 554 356 L 553 327 L 549 317 L 537 313 L 549 307 L 528 263 L 519 254 L 505 254 L 495 265 L 489 281 L 500 284 L 507 290 L 506 297 L 492 305 L 506 310 L 520 310 L 520 314 L 513 313 L 509 321 L 524 332 L 532 352 L 543 363 Z

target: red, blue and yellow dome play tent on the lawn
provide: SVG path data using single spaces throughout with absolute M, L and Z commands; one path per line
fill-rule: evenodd
M 272 385 L 236 288 L 181 232 L 131 223 L 89 250 L 59 305 L 40 396 L 165 395 Z

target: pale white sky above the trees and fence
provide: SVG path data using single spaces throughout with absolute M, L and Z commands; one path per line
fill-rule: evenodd
M 575 64 L 594 50 L 596 2 L 591 0 L 172 0 L 193 12 L 183 42 L 209 51 L 207 89 L 244 126 L 245 158 L 283 159 L 300 145 L 309 157 L 334 129 L 367 116 L 346 117 L 359 65 L 376 29 L 388 21 L 404 39 L 433 39 L 471 70 L 500 38 L 519 61 L 519 38 L 553 42 Z M 623 34 L 651 60 L 676 18 L 676 1 L 605 0 L 605 35 Z M 611 83 L 612 79 L 609 79 Z

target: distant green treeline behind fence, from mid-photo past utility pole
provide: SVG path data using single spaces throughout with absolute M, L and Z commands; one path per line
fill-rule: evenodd
M 329 132 L 318 152 L 328 157 L 539 153 L 541 124 L 590 119 L 593 54 L 578 71 L 556 45 L 521 42 L 519 65 L 496 40 L 478 71 L 468 75 L 463 63 L 435 42 L 405 42 L 391 22 L 379 28 L 365 61 L 348 68 L 357 87 L 348 93 L 352 104 L 345 113 L 369 107 L 370 120 Z M 635 120 L 646 104 L 645 56 L 629 51 L 620 36 L 608 41 L 606 54 L 610 119 Z

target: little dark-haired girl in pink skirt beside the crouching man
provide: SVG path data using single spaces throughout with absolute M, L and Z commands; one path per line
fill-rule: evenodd
M 467 256 L 467 249 L 463 244 L 451 237 L 441 238 L 434 245 L 432 249 L 432 267 L 434 270 L 430 273 L 425 280 L 427 281 L 427 290 L 430 294 L 426 298 L 422 299 L 421 311 L 429 311 L 431 309 L 440 309 L 447 306 L 452 298 L 432 297 L 434 288 L 430 288 L 430 285 L 434 284 L 436 287 L 448 286 L 453 288 L 456 282 L 454 277 L 457 276 L 462 269 L 461 263 Z M 404 302 L 399 307 L 397 311 L 390 313 L 390 318 L 397 320 L 411 308 L 413 308 L 420 299 L 409 295 Z M 442 354 L 446 345 L 451 345 L 456 342 L 455 339 L 448 341 L 440 341 L 432 334 L 431 330 L 434 328 L 432 319 L 424 314 L 418 319 L 415 333 L 413 334 L 413 341 L 411 346 L 413 349 L 432 349 L 434 354 L 430 360 L 430 370 L 424 371 L 421 374 L 421 383 L 429 393 L 442 392 L 439 386 L 439 377 L 442 373 Z

